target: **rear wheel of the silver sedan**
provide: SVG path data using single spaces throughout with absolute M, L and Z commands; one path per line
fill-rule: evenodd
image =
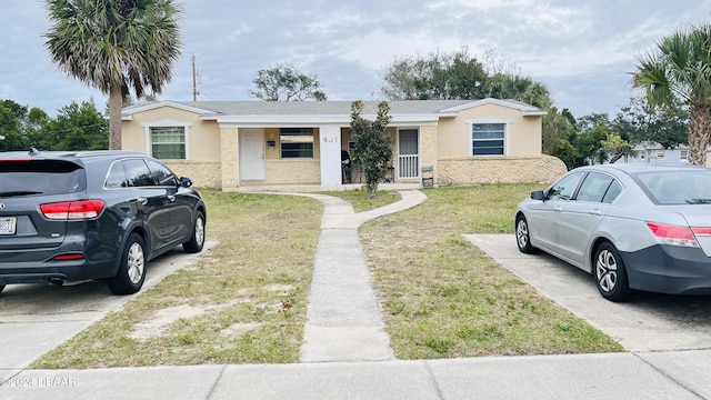
M 624 262 L 612 243 L 603 242 L 598 246 L 593 262 L 595 284 L 603 298 L 614 302 L 628 301 L 632 298 Z

